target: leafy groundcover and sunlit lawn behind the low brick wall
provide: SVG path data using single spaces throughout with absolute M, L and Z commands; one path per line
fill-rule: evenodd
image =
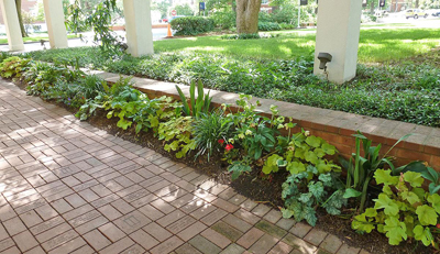
M 82 67 L 179 84 L 198 79 L 217 90 L 440 126 L 439 51 L 414 57 L 439 47 L 438 31 L 363 29 L 356 77 L 343 85 L 312 75 L 315 31 L 279 33 L 263 40 L 199 36 L 157 41 L 156 54 L 143 57 L 113 58 L 97 47 L 37 51 L 25 56 L 78 60 Z M 393 62 L 366 64 L 386 60 Z

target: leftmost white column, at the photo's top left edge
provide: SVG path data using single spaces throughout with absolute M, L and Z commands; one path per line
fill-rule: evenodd
M 9 51 L 23 51 L 24 44 L 21 37 L 19 15 L 14 0 L 0 0 L 0 8 L 3 14 L 4 26 L 7 27 Z

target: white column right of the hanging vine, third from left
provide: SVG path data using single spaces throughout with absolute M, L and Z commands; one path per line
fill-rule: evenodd
M 133 56 L 153 54 L 150 0 L 124 0 L 128 52 Z

